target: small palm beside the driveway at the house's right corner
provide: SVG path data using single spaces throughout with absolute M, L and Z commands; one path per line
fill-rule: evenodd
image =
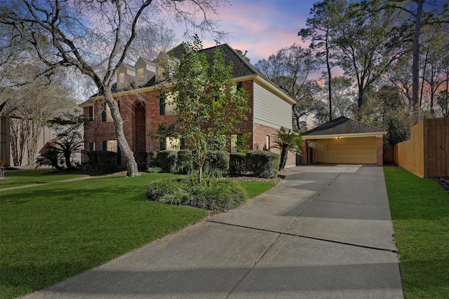
M 274 144 L 276 144 L 273 146 L 274 148 L 281 150 L 279 170 L 282 170 L 286 167 L 288 152 L 301 155 L 301 146 L 304 144 L 304 139 L 302 139 L 301 135 L 292 132 L 292 130 L 288 129 L 287 131 L 284 127 L 281 127 L 274 135 Z

